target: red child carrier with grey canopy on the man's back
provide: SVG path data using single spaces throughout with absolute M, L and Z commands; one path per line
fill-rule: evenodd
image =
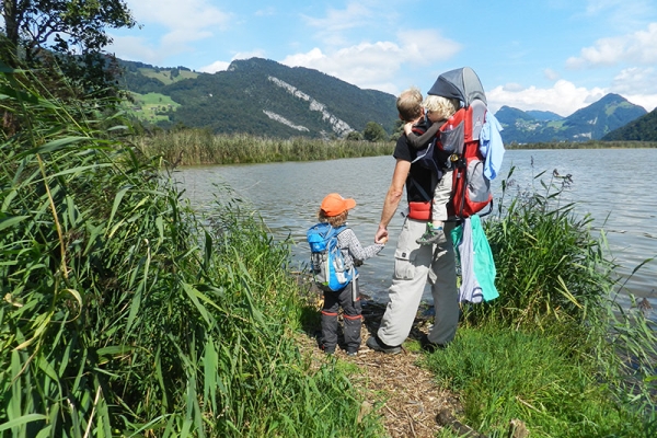
M 469 67 L 438 77 L 428 94 L 459 99 L 463 106 L 440 128 L 440 148 L 450 152 L 453 169 L 450 212 L 468 218 L 488 207 L 493 210 L 491 181 L 484 175 L 485 157 L 480 151 L 480 134 L 486 117 L 486 95 L 482 83 Z

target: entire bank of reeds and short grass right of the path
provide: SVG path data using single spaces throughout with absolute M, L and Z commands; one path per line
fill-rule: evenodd
M 514 418 L 539 437 L 655 436 L 657 336 L 614 301 L 622 285 L 604 234 L 562 204 L 570 181 L 556 172 L 505 206 L 512 173 L 485 223 L 500 296 L 465 307 L 456 341 L 426 366 L 489 436 Z

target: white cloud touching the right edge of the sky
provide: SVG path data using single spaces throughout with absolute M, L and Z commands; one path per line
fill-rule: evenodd
M 566 66 L 581 68 L 620 62 L 657 62 L 657 23 L 648 24 L 646 30 L 598 39 L 593 46 L 583 48 L 579 57 L 568 58 Z

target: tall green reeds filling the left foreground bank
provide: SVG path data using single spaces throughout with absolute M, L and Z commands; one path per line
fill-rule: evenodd
M 229 193 L 196 218 L 115 117 L 30 83 L 0 73 L 0 434 L 380 436 L 292 341 L 289 245 Z

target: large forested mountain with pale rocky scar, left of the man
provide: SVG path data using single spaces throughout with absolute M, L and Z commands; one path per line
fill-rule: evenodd
M 175 107 L 158 110 L 165 116 L 158 122 L 163 127 L 333 138 L 362 131 L 368 122 L 391 134 L 397 119 L 392 94 L 361 90 L 318 70 L 273 60 L 234 60 L 227 71 L 214 74 L 122 62 L 127 90 L 139 95 L 158 93 L 175 102 Z

